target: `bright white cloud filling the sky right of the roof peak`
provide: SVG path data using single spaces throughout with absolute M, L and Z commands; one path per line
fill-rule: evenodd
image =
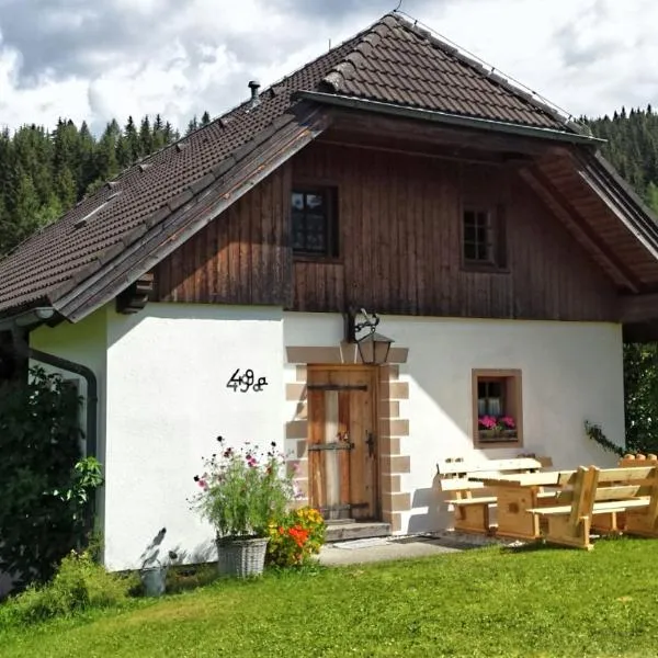
M 423 22 L 576 116 L 658 101 L 654 0 L 469 0 Z

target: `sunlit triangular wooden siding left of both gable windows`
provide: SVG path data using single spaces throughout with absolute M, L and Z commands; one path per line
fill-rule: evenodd
M 290 190 L 284 164 L 160 262 L 157 299 L 285 305 L 292 295 Z

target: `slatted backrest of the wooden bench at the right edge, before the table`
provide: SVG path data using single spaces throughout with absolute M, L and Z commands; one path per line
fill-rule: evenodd
M 658 467 L 631 466 L 597 468 L 581 466 L 565 483 L 556 504 L 571 504 L 572 521 L 592 513 L 594 503 L 627 501 L 649 497 L 650 506 L 658 506 Z

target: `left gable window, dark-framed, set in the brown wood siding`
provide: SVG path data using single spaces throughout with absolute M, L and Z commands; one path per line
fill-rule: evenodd
M 293 253 L 317 258 L 338 257 L 336 188 L 293 188 Z

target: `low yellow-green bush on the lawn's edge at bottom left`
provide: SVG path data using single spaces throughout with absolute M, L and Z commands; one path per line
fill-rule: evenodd
M 134 587 L 131 577 L 110 574 L 89 551 L 67 555 L 50 582 L 30 586 L 7 603 L 7 616 L 31 624 L 125 601 Z

